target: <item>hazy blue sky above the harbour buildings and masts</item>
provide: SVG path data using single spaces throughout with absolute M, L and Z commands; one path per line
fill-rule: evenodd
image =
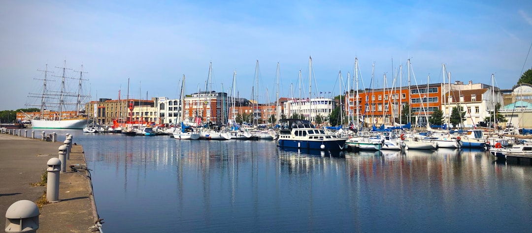
M 412 85 L 447 82 L 445 64 L 451 82 L 511 89 L 532 68 L 532 1 L 6 0 L 0 30 L 0 110 L 34 107 L 46 64 L 49 90 L 71 69 L 69 92 L 83 65 L 86 102 L 127 98 L 128 80 L 130 98 L 177 99 L 183 75 L 186 94 L 331 97 L 355 58 L 360 89 L 408 85 L 408 59 Z

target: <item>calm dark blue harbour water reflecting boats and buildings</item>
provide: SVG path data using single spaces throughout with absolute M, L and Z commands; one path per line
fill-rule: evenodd
M 74 135 L 105 232 L 531 232 L 532 166 L 484 151 Z

